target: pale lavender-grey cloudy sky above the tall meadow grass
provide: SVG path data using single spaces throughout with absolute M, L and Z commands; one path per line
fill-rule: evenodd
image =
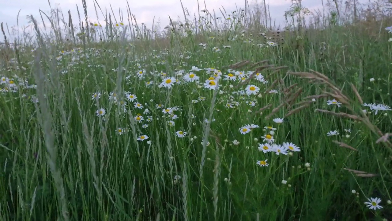
M 365 0 L 362 0 L 365 1 Z M 73 23 L 78 24 L 76 20 L 78 20 L 76 5 L 79 7 L 80 13 L 83 14 L 82 9 L 82 0 L 51 0 L 52 8 L 60 7 L 64 13 L 65 20 L 68 19 L 68 10 L 71 10 L 71 15 L 73 17 Z M 89 15 L 89 19 L 92 22 L 97 22 L 96 14 L 94 11 L 94 0 L 86 0 L 87 2 L 87 13 Z M 96 0 L 102 10 L 105 12 L 105 7 L 108 12 L 110 9 L 110 4 L 113 8 L 116 18 L 118 19 L 118 11 L 123 11 L 123 15 L 127 14 L 126 0 Z M 111 3 L 109 3 L 111 2 Z M 244 8 L 244 0 L 205 0 L 205 4 L 209 11 L 213 9 L 218 13 L 220 7 L 224 7 L 226 11 L 234 11 L 236 7 Z M 252 2 L 250 0 L 249 2 Z M 260 2 L 260 0 L 259 0 Z M 284 13 L 290 7 L 291 2 L 289 0 L 266 0 L 267 4 L 270 7 L 270 13 L 274 19 L 278 22 L 283 23 L 284 21 Z M 191 13 L 198 13 L 197 8 L 197 0 L 182 0 L 183 6 L 188 8 Z M 319 9 L 321 8 L 321 0 L 303 0 L 302 4 L 309 9 Z M 136 16 L 136 20 L 138 24 L 144 22 L 147 24 L 147 27 L 151 27 L 152 20 L 154 16 L 157 20 L 160 18 L 162 23 L 162 28 L 169 23 L 169 17 L 174 20 L 177 20 L 177 17 L 183 18 L 183 12 L 181 9 L 180 0 L 129 0 L 129 6 L 131 7 L 131 12 Z M 26 15 L 33 15 L 36 19 L 40 19 L 40 15 L 38 13 L 38 9 L 41 9 L 44 12 L 48 12 L 50 10 L 49 3 L 47 0 L 2 0 L 1 8 L 0 8 L 0 22 L 4 22 L 4 24 L 8 24 L 9 29 L 11 26 L 16 26 L 17 24 L 17 15 L 19 14 L 19 27 L 27 26 Z M 200 0 L 200 9 L 204 9 L 203 1 Z M 81 15 L 84 18 L 84 15 Z M 100 22 L 103 22 L 102 13 L 98 12 L 98 16 L 100 16 Z M 217 15 L 219 16 L 219 14 Z M 7 32 L 7 30 L 5 30 Z M 6 33 L 7 34 L 7 33 Z M 0 35 L 0 42 L 4 41 L 4 37 Z

